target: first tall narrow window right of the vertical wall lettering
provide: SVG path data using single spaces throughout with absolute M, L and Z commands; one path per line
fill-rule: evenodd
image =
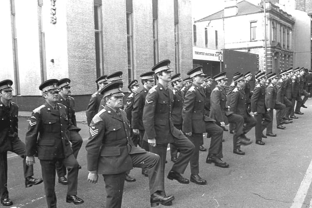
M 94 0 L 94 31 L 96 43 L 97 77 L 103 75 L 103 42 L 102 42 L 102 1 Z

